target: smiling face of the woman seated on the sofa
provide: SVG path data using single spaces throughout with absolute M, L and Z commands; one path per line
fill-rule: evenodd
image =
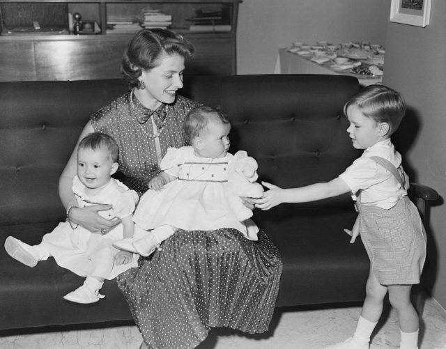
M 160 102 L 175 102 L 176 91 L 183 87 L 184 58 L 174 54 L 162 56 L 155 68 L 143 70 L 140 77 L 146 88 L 139 90 L 144 94 L 145 107 L 156 109 Z

